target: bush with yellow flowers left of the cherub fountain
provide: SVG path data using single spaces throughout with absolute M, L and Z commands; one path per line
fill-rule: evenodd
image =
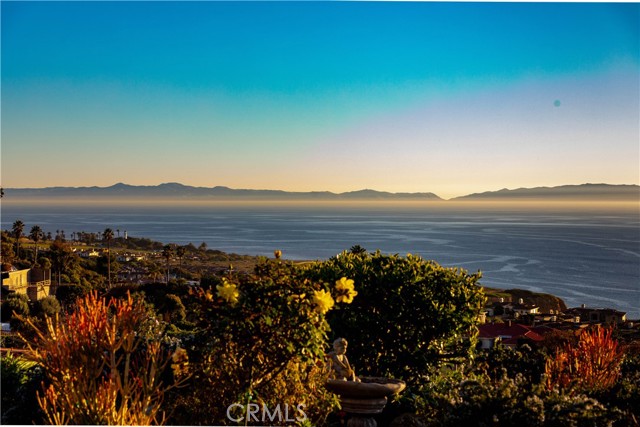
M 231 273 L 212 290 L 192 292 L 195 373 L 188 389 L 175 393 L 172 423 L 218 425 L 231 404 L 258 403 L 303 404 L 313 425 L 322 424 L 336 402 L 323 387 L 328 324 L 316 297 L 328 302 L 338 294 L 302 273 L 263 259 L 254 274 Z

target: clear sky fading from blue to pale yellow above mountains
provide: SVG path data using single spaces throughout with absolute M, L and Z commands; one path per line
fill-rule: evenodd
M 640 5 L 10 2 L 1 184 L 640 184 Z

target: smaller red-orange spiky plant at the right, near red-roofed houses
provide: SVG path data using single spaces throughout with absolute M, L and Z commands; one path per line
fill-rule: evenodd
M 613 329 L 597 326 L 584 331 L 577 344 L 567 343 L 547 359 L 546 386 L 574 391 L 599 391 L 613 386 L 624 353 Z

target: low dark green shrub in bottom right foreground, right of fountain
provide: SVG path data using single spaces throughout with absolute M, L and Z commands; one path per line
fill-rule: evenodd
M 562 389 L 547 391 L 544 383 L 532 384 L 520 373 L 508 375 L 507 370 L 497 375 L 502 363 L 474 363 L 465 370 L 431 370 L 430 381 L 414 397 L 424 424 L 596 427 L 611 426 L 622 419 L 620 410 L 607 407 L 592 396 Z M 631 421 L 632 417 L 628 419 Z

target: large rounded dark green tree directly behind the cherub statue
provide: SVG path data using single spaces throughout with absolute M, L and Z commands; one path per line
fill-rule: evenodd
M 343 252 L 309 267 L 314 281 L 353 279 L 357 298 L 327 315 L 333 337 L 350 341 L 356 373 L 427 381 L 426 368 L 465 361 L 475 349 L 485 297 L 480 273 L 418 256 Z

